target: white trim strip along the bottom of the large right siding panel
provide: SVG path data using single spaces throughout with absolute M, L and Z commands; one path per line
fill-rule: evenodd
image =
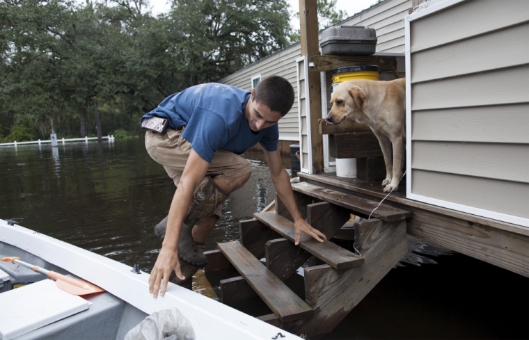
M 506 213 L 498 213 L 496 211 L 490 211 L 475 207 L 469 207 L 464 204 L 457 204 L 453 202 L 437 200 L 436 198 L 426 197 L 422 195 L 417 195 L 414 193 L 406 195 L 410 200 L 416 200 L 418 202 L 424 202 L 427 204 L 433 204 L 437 207 L 448 208 L 456 211 L 461 211 L 464 213 L 471 213 L 472 215 L 481 216 L 485 218 L 491 218 L 493 220 L 500 220 L 503 222 L 512 223 L 514 225 L 519 225 L 521 227 L 529 227 L 529 218 L 521 218 L 518 216 L 507 215 Z

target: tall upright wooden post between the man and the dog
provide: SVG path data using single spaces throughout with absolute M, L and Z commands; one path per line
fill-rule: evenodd
M 318 15 L 316 0 L 299 0 L 299 24 L 301 56 L 319 54 Z M 308 72 L 308 101 L 310 110 L 310 145 L 313 150 L 313 173 L 320 174 L 323 168 L 323 139 L 319 133 L 318 120 L 322 118 L 322 90 L 319 72 Z

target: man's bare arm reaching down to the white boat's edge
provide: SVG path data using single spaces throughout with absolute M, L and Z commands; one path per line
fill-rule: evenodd
M 169 282 L 169 275 L 171 275 L 173 270 L 175 270 L 180 280 L 184 280 L 184 276 L 180 271 L 180 261 L 178 260 L 178 237 L 180 236 L 184 218 L 189 210 L 193 192 L 205 177 L 209 167 L 210 163 L 200 157 L 195 150 L 191 150 L 169 208 L 167 229 L 164 242 L 161 244 L 161 251 L 158 254 L 155 266 L 150 272 L 149 293 L 152 293 L 154 298 L 157 298 L 158 292 L 161 296 L 164 296 Z

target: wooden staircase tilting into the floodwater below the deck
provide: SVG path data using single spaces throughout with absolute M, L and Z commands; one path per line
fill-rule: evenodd
M 406 254 L 411 213 L 307 182 L 292 188 L 301 216 L 328 239 L 351 213 L 367 217 L 373 211 L 373 218 L 354 224 L 356 253 L 306 234 L 294 245 L 292 216 L 276 197 L 276 211 L 239 222 L 240 242 L 220 243 L 220 251 L 207 252 L 205 272 L 235 267 L 241 276 L 232 273 L 219 282 L 224 303 L 259 296 L 274 312 L 260 320 L 317 339 L 331 332 Z M 301 277 L 287 279 L 301 266 L 305 301 L 287 286 L 300 288 Z

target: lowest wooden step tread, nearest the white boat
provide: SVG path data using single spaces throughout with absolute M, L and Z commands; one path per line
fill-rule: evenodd
M 308 318 L 314 311 L 239 241 L 219 243 L 219 250 L 282 322 Z

